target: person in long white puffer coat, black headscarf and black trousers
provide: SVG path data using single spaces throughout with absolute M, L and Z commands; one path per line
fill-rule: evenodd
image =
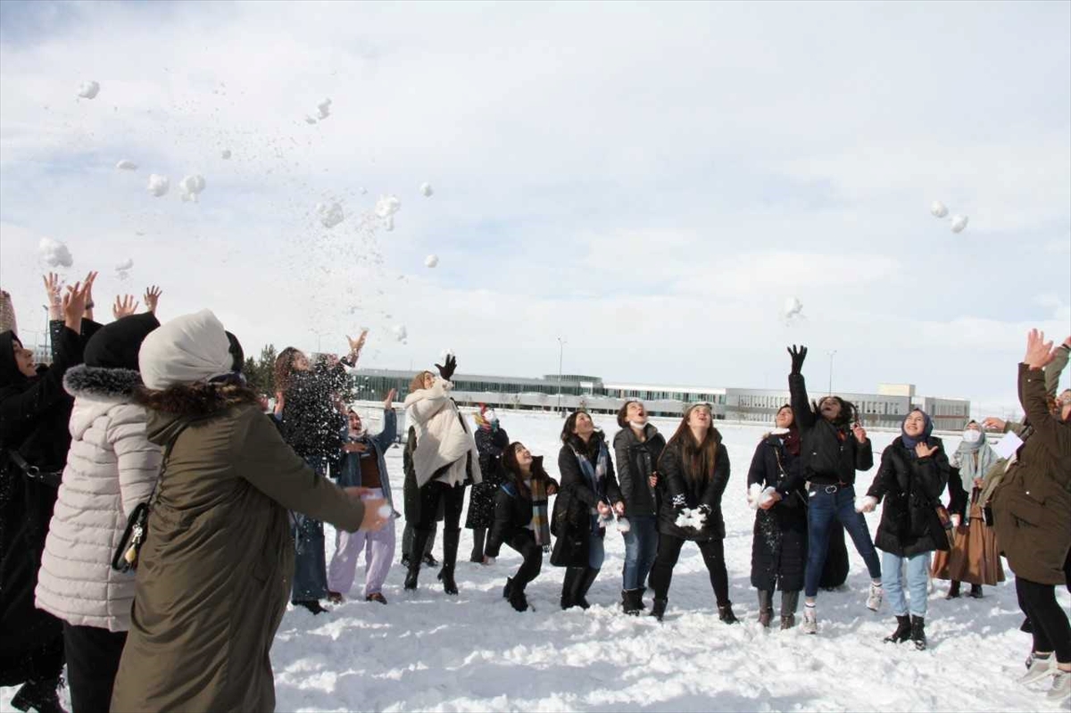
M 122 317 L 86 345 L 67 370 L 74 396 L 71 451 L 34 592 L 39 609 L 63 622 L 75 713 L 106 711 L 131 625 L 134 572 L 111 566 L 130 514 L 160 474 L 161 449 L 146 437 L 138 349 L 160 327 L 152 313 Z

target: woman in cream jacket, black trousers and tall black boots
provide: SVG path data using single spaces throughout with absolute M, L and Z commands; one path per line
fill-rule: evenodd
M 457 360 L 449 355 L 446 365 L 439 366 L 439 376 L 431 371 L 418 374 L 406 396 L 406 416 L 417 436 L 412 453 L 417 485 L 420 487 L 420 515 L 416 525 L 412 551 L 423 552 L 432 534 L 439 503 L 443 504 L 442 568 L 439 580 L 447 594 L 457 594 L 454 566 L 457 563 L 457 543 L 461 538 L 462 510 L 465 506 L 465 486 L 480 483 L 480 453 L 468 424 L 450 398 L 453 383 L 450 377 L 457 368 Z M 416 559 L 416 561 L 413 561 Z M 420 559 L 411 558 L 405 588 L 417 589 Z

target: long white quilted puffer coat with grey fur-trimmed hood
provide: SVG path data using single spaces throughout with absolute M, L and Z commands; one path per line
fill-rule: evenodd
M 152 492 L 161 449 L 146 439 L 133 404 L 137 371 L 77 366 L 63 379 L 75 397 L 59 499 L 37 575 L 36 606 L 76 626 L 130 628 L 134 573 L 111 568 L 130 513 Z

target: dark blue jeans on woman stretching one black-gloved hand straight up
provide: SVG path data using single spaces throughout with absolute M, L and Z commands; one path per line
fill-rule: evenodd
M 826 551 L 829 549 L 829 526 L 833 520 L 840 520 L 848 532 L 856 551 L 866 562 L 871 579 L 881 578 L 881 562 L 874 549 L 866 519 L 862 513 L 856 512 L 856 489 L 848 485 L 839 488 L 836 492 L 826 492 L 825 485 L 812 485 L 808 498 L 808 556 L 806 575 L 803 578 L 804 594 L 813 597 L 818 594 L 818 582 L 821 580 L 821 568 L 826 566 Z

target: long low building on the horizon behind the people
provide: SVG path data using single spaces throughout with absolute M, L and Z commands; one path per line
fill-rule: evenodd
M 402 400 L 409 393 L 413 371 L 357 369 L 351 373 L 356 395 L 375 400 L 395 389 Z M 462 406 L 487 404 L 495 408 L 537 411 L 616 413 L 627 399 L 644 401 L 652 415 L 680 415 L 690 404 L 710 404 L 719 420 L 773 423 L 773 416 L 788 403 L 788 390 L 735 389 L 721 386 L 670 386 L 657 384 L 604 383 L 600 377 L 557 375 L 542 378 L 457 374 L 454 400 Z M 825 393 L 815 393 L 814 397 Z M 883 384 L 878 393 L 840 393 L 859 409 L 864 425 L 899 427 L 914 407 L 934 419 L 939 430 L 957 430 L 970 415 L 970 401 L 960 398 L 917 396 L 911 384 Z

